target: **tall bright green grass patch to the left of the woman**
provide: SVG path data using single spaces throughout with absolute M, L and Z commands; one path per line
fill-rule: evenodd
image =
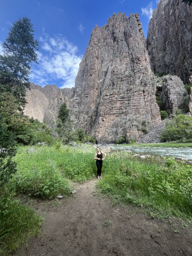
M 74 152 L 71 147 L 34 147 L 35 152 L 27 154 L 28 147 L 18 148 L 15 161 L 17 173 L 11 180 L 16 192 L 29 196 L 48 198 L 58 194 L 68 196 L 69 180 L 83 182 L 91 179 L 96 170 L 93 153 Z

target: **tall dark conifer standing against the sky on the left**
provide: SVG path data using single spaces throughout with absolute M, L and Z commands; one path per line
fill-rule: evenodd
M 16 20 L 9 30 L 2 44 L 4 55 L 0 55 L 0 92 L 12 93 L 20 107 L 26 104 L 25 88 L 29 88 L 32 64 L 37 63 L 39 42 L 34 40 L 33 26 L 27 17 Z

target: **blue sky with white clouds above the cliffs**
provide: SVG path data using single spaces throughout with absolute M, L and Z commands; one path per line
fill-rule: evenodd
M 157 0 L 7 0 L 1 1 L 0 54 L 9 27 L 19 17 L 31 19 L 35 39 L 40 42 L 39 65 L 34 65 L 30 80 L 42 87 L 74 87 L 79 63 L 87 48 L 91 31 L 105 25 L 113 13 L 139 13 L 145 37 Z

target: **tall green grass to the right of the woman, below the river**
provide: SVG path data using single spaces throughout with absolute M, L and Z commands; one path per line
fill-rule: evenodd
M 147 207 L 159 218 L 177 216 L 192 221 L 192 167 L 168 158 L 161 164 L 142 164 L 123 156 L 107 157 L 102 193 L 116 202 Z

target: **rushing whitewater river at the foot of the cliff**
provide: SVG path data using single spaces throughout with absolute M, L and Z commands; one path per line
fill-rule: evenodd
M 142 155 L 152 155 L 152 156 L 173 156 L 175 158 L 186 158 L 187 160 L 192 160 L 192 147 L 187 148 L 176 148 L 176 147 L 139 147 L 139 146 L 116 146 L 116 145 L 100 145 L 102 150 L 104 148 L 110 147 L 112 152 L 115 151 L 127 151 L 131 150 L 132 153 L 142 154 Z M 105 152 L 105 151 L 104 151 Z

